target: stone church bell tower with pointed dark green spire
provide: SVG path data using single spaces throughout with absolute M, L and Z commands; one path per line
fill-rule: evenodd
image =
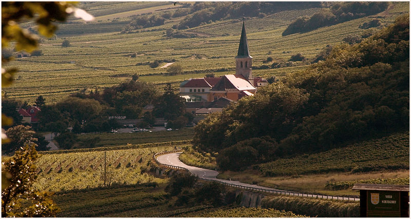
M 252 58 L 248 51 L 246 26 L 242 21 L 240 44 L 238 45 L 237 56 L 235 56 L 235 74 L 241 74 L 247 80 L 253 79 L 253 73 L 251 72 Z

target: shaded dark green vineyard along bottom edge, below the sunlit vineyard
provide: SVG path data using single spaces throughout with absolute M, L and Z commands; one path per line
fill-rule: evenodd
M 225 206 L 174 206 L 175 198 L 158 188 L 118 185 L 56 192 L 53 201 L 62 209 L 58 217 L 302 217 L 275 209 Z

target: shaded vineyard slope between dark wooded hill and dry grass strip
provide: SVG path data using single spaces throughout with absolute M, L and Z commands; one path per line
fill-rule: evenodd
M 281 158 L 256 168 L 266 176 L 408 169 L 409 133 L 397 133 L 322 153 Z

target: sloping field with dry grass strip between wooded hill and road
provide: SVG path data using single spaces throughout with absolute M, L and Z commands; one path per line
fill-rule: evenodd
M 409 134 L 397 133 L 322 153 L 282 158 L 243 172 L 226 171 L 219 178 L 271 188 L 329 195 L 358 195 L 348 189 L 327 189 L 327 182 L 409 177 Z

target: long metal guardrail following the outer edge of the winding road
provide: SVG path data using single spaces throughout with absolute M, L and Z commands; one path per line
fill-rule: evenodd
M 153 158 L 157 162 L 157 164 L 159 164 L 160 166 L 170 167 L 170 168 L 179 169 L 179 170 L 185 170 L 185 171 L 191 173 L 191 175 L 193 175 L 193 173 L 190 172 L 190 170 L 187 169 L 187 168 L 168 165 L 168 164 L 162 164 L 156 158 L 156 156 L 161 155 L 161 154 L 175 153 L 175 152 L 181 152 L 181 150 L 164 151 L 164 152 L 156 153 L 156 154 L 153 155 Z M 223 184 L 223 185 L 227 185 L 227 186 L 231 186 L 231 187 L 234 187 L 234 188 L 248 189 L 248 190 L 252 190 L 252 191 L 261 191 L 261 192 L 284 194 L 284 195 L 293 195 L 293 196 L 301 196 L 301 197 L 324 198 L 324 199 L 327 199 L 327 200 L 331 199 L 331 200 L 344 200 L 344 201 L 356 201 L 356 202 L 360 201 L 360 198 L 353 198 L 353 197 L 340 197 L 340 196 L 332 196 L 332 195 L 306 194 L 306 193 L 291 192 L 291 191 L 281 191 L 281 190 L 276 190 L 276 189 L 262 189 L 262 188 L 254 188 L 254 187 L 249 187 L 249 186 L 241 186 L 241 185 L 236 185 L 236 184 L 230 184 L 230 183 L 219 181 L 217 179 L 214 180 L 214 179 L 211 179 L 211 178 L 201 178 L 201 177 L 198 177 L 198 178 L 200 180 L 204 180 L 204 181 L 214 181 L 214 182 L 217 182 L 217 183 L 220 183 L 220 184 Z

